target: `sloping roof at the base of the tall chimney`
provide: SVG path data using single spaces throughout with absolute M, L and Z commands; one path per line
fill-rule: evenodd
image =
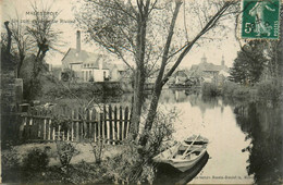
M 79 52 L 77 52 L 76 49 L 70 48 L 63 57 L 62 61 L 67 61 L 70 64 L 83 63 L 83 61 L 86 61 L 91 54 L 93 53 L 85 50 L 81 50 Z

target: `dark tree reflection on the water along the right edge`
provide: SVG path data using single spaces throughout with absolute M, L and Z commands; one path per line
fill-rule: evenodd
M 279 183 L 282 178 L 282 108 L 262 102 L 237 106 L 236 122 L 251 139 L 243 149 L 249 152 L 248 174 L 255 175 L 257 184 Z

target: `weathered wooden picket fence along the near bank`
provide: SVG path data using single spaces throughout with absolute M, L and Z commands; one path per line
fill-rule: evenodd
M 102 106 L 83 109 L 28 109 L 21 114 L 23 141 L 83 141 L 103 139 L 116 145 L 127 138 L 131 126 L 128 107 Z

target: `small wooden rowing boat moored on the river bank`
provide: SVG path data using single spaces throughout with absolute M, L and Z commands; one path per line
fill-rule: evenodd
M 152 160 L 157 163 L 168 163 L 181 172 L 192 169 L 206 153 L 208 139 L 192 136 L 182 143 L 160 152 Z

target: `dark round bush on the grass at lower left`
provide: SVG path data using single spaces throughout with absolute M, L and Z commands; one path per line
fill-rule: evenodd
M 44 170 L 47 168 L 50 159 L 46 151 L 40 148 L 33 148 L 27 157 L 23 159 L 23 168 L 27 171 Z

